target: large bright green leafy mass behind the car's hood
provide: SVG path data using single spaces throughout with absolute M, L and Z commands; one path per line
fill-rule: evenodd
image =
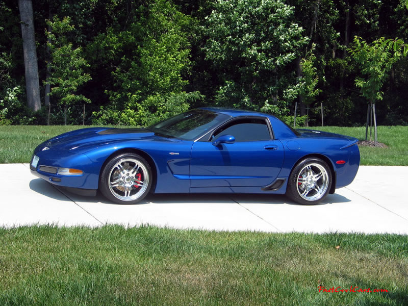
M 94 112 L 93 122 L 146 125 L 183 112 L 189 100 L 202 98 L 183 91 L 188 84 L 183 74 L 191 65 L 190 22 L 170 2 L 157 0 L 136 9 L 125 31 L 112 27 L 96 37 L 88 52 L 113 63 L 108 69 L 114 68 L 114 88 L 106 90 L 112 107 Z

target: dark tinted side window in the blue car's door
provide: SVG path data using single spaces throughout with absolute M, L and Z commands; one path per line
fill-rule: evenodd
M 271 139 L 264 119 L 238 119 L 221 126 L 213 134 L 211 141 L 222 135 L 232 135 L 235 141 L 257 141 Z

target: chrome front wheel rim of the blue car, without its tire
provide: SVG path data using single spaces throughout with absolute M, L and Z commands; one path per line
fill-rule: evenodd
M 111 194 L 122 201 L 135 201 L 150 186 L 149 171 L 136 158 L 122 158 L 110 168 L 108 185 Z

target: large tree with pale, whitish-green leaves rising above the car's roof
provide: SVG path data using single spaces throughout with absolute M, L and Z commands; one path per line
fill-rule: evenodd
M 287 112 L 293 99 L 291 64 L 308 42 L 283 1 L 219 1 L 207 18 L 206 58 L 224 79 L 222 106 Z

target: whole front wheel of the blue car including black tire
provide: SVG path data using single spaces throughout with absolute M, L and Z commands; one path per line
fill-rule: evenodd
M 100 174 L 100 191 L 119 204 L 135 204 L 150 191 L 152 183 L 148 162 L 134 153 L 112 158 Z

